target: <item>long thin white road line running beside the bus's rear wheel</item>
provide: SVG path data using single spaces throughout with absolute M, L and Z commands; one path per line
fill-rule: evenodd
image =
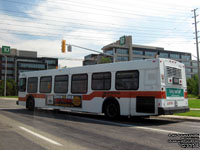
M 101 122 L 101 123 L 107 123 L 107 124 L 112 124 L 112 125 L 117 125 L 117 126 L 122 126 L 122 127 L 129 127 L 129 128 L 133 128 L 133 129 L 136 128 L 136 129 L 143 129 L 143 130 L 163 132 L 163 133 L 186 134 L 184 132 L 177 132 L 177 131 L 164 130 L 164 129 L 156 129 L 156 128 L 150 128 L 150 127 L 144 127 L 144 126 L 136 126 L 136 125 L 131 125 L 131 124 L 123 124 L 123 123 L 104 121 L 104 120 L 97 120 L 97 119 L 91 119 L 91 118 L 82 118 L 82 117 L 77 117 L 77 118 L 90 120 L 90 121 Z

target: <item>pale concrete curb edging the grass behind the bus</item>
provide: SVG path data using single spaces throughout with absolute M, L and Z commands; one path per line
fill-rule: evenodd
M 188 117 L 188 116 L 175 116 L 175 115 L 162 115 L 161 118 L 183 120 L 183 121 L 195 121 L 200 122 L 200 117 Z

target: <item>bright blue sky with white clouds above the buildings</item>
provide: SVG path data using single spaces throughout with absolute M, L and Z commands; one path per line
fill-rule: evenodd
M 195 59 L 195 8 L 200 14 L 199 0 L 0 0 L 0 46 L 37 51 L 73 67 L 92 52 L 73 47 L 61 53 L 62 39 L 102 52 L 131 35 L 133 44 L 189 52 Z

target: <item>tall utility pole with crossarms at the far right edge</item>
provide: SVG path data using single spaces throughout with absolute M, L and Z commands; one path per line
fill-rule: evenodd
M 196 8 L 196 9 L 194 9 L 194 10 L 192 10 L 192 12 L 194 12 L 194 17 L 192 17 L 192 18 L 194 18 L 194 25 L 195 25 L 195 39 L 196 39 L 196 49 L 197 49 L 197 69 L 198 69 L 198 78 L 199 78 L 199 82 L 198 82 L 198 87 L 199 87 L 199 92 L 198 92 L 198 96 L 199 96 L 199 98 L 200 98 L 200 70 L 199 70 L 199 42 L 198 42 L 198 30 L 197 30 L 197 23 L 199 23 L 199 22 L 197 22 L 197 16 L 198 15 L 196 15 L 196 10 L 197 10 L 198 8 Z

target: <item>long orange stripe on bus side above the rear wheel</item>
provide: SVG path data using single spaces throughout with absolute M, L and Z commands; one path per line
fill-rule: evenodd
M 137 96 L 154 96 L 155 98 L 166 99 L 165 91 L 96 91 L 89 95 L 83 95 L 83 100 L 92 100 L 95 97 L 117 97 L 117 98 L 136 98 Z

